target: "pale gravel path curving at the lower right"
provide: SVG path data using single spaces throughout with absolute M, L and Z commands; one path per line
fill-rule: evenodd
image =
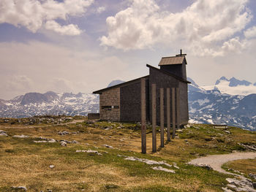
M 234 161 L 238 159 L 246 159 L 246 158 L 256 158 L 255 152 L 248 153 L 230 153 L 224 155 L 208 155 L 206 157 L 195 158 L 189 162 L 189 164 L 200 165 L 200 164 L 208 164 L 217 172 L 222 172 L 225 174 L 230 174 L 230 172 L 226 172 L 222 169 L 222 164 L 227 163 L 227 161 Z

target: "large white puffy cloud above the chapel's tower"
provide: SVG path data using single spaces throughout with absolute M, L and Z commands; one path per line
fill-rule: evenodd
M 223 55 L 252 20 L 247 2 L 196 0 L 173 13 L 162 11 L 154 0 L 132 0 L 127 9 L 106 19 L 108 35 L 100 38 L 101 45 L 121 50 L 186 46 L 194 55 Z

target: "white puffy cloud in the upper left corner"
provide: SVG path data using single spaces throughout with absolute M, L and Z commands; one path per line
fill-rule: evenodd
M 69 16 L 81 16 L 94 0 L 1 0 L 0 23 L 10 23 L 16 27 L 24 26 L 37 32 L 45 26 L 61 34 L 78 35 L 78 26 L 60 26 L 56 19 L 67 20 Z M 49 23 L 50 22 L 50 23 Z M 54 25 L 53 25 L 53 22 Z M 72 31 L 72 32 L 70 32 Z M 78 31 L 80 31 L 78 33 Z

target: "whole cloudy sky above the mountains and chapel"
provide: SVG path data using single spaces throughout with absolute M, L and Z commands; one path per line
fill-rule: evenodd
M 256 82 L 255 0 L 0 0 L 0 99 L 91 93 L 187 53 L 198 85 Z

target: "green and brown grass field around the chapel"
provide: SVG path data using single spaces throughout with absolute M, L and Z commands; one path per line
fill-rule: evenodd
M 138 124 L 85 121 L 46 125 L 0 123 L 0 129 L 9 135 L 0 136 L 0 191 L 15 191 L 12 186 L 26 186 L 28 191 L 223 191 L 222 187 L 227 185 L 225 178 L 230 175 L 187 162 L 198 156 L 246 150 L 238 143 L 256 144 L 256 132 L 194 124 L 177 131 L 178 137 L 165 142 L 165 147 L 159 147 L 157 153 L 151 153 L 151 127 L 148 126 L 147 154 L 143 155 Z M 59 135 L 59 131 L 78 134 Z M 12 137 L 21 134 L 29 137 Z M 60 142 L 36 143 L 35 140 L 40 140 L 37 137 L 79 143 L 62 147 Z M 102 155 L 76 150 L 97 150 Z M 152 169 L 159 165 L 129 161 L 126 156 L 165 161 L 178 167 L 160 165 L 176 173 L 163 172 Z M 247 161 L 249 171 L 255 172 L 255 160 Z M 244 162 L 246 160 L 225 166 L 249 174 L 243 169 Z

